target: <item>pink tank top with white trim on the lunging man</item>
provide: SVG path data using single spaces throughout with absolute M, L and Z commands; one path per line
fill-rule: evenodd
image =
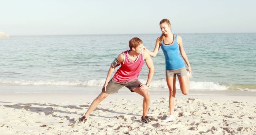
M 128 52 L 130 50 L 127 50 L 123 52 L 124 54 L 124 62 L 121 64 L 121 67 L 116 71 L 114 74 L 113 79 L 118 82 L 127 82 L 132 81 L 134 79 L 137 79 L 140 71 L 142 69 L 142 66 L 144 65 L 144 57 L 143 57 L 143 50 L 142 54 L 138 55 L 137 59 L 134 62 L 131 62 L 128 57 Z

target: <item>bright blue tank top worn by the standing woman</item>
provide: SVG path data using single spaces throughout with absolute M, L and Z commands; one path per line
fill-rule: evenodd
M 165 56 L 165 69 L 174 70 L 184 67 L 184 61 L 180 57 L 180 49 L 177 43 L 177 35 L 174 36 L 174 43 L 170 45 L 164 44 L 164 41 L 161 41 L 161 48 Z

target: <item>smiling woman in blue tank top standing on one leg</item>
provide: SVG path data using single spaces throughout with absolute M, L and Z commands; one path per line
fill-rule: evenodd
M 164 119 L 165 122 L 173 121 L 174 117 L 174 105 L 175 105 L 175 95 L 176 95 L 176 75 L 180 82 L 180 89 L 184 95 L 188 94 L 189 91 L 189 76 L 187 75 L 187 70 L 192 74 L 190 64 L 186 52 L 183 49 L 182 38 L 180 36 L 172 34 L 171 24 L 168 19 L 163 19 L 160 21 L 160 29 L 162 31 L 162 36 L 156 39 L 156 46 L 153 52 L 144 48 L 150 56 L 156 57 L 159 48 L 161 47 L 166 64 L 166 81 L 170 91 L 169 94 L 169 109 L 170 115 Z M 180 52 L 180 53 L 179 53 Z M 186 70 L 184 61 L 180 57 L 180 54 L 184 61 L 186 62 L 188 69 Z

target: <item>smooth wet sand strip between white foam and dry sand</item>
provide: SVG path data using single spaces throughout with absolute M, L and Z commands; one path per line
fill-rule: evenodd
M 78 87 L 78 86 L 34 86 L 34 85 L 0 85 L 0 94 L 32 94 L 32 93 L 55 93 L 55 94 L 99 94 L 102 87 Z M 149 89 L 151 95 L 166 95 L 169 90 L 166 88 L 152 88 Z M 134 94 L 126 87 L 121 88 L 118 94 Z M 176 95 L 182 95 L 180 89 L 176 89 Z M 256 92 L 252 91 L 232 91 L 232 90 L 200 90 L 192 89 L 188 95 L 239 95 L 239 96 L 256 96 Z

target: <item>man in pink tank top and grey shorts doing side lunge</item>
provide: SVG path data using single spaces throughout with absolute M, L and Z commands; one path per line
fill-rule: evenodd
M 139 38 L 132 38 L 129 41 L 129 47 L 130 50 L 119 54 L 114 62 L 112 62 L 108 70 L 105 84 L 102 87 L 102 92 L 98 97 L 96 97 L 96 99 L 94 99 L 86 114 L 79 118 L 79 122 L 85 122 L 90 113 L 96 109 L 101 101 L 111 93 L 118 93 L 118 90 L 124 86 L 130 89 L 131 92 L 136 92 L 144 97 L 141 122 L 148 123 L 150 121 L 147 116 L 150 104 L 150 93 L 148 91 L 148 87 L 154 75 L 154 64 L 148 52 L 143 52 L 142 40 Z M 146 62 L 149 69 L 146 84 L 142 84 L 138 81 L 138 75 L 140 74 L 144 62 Z M 114 77 L 110 79 L 115 68 L 120 64 L 121 67 L 116 71 Z

